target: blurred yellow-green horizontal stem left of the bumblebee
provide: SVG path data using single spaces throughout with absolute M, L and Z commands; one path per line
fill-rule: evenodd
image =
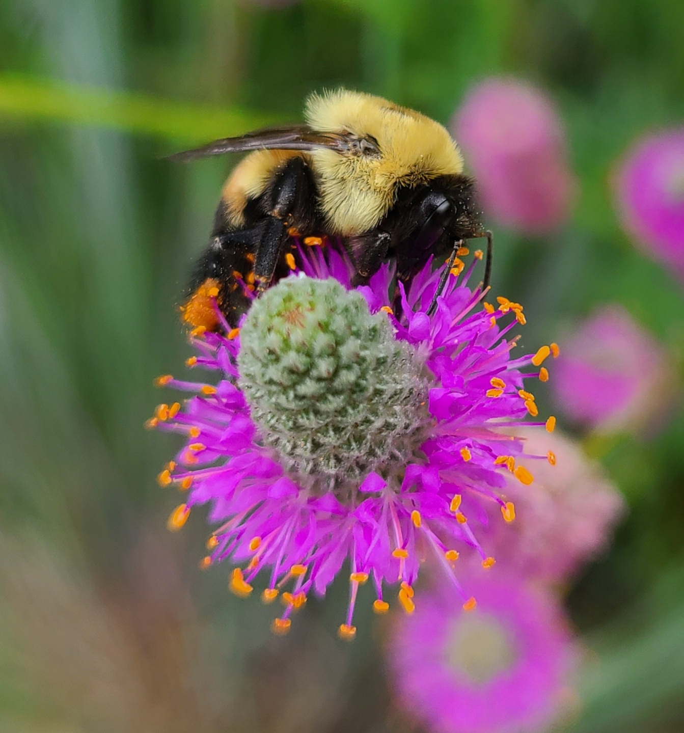
M 277 117 L 236 107 L 188 104 L 52 79 L 0 74 L 0 119 L 114 128 L 174 141 L 206 141 L 273 124 Z

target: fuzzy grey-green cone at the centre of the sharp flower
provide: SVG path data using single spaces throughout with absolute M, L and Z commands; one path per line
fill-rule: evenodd
M 420 455 L 429 372 L 385 313 L 336 280 L 291 276 L 252 303 L 240 330 L 240 388 L 287 474 L 350 498 Z

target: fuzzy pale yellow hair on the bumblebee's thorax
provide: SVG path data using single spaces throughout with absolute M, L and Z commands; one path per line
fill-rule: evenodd
M 320 207 L 340 235 L 367 232 L 387 213 L 397 186 L 413 187 L 463 172 L 463 157 L 442 125 L 372 95 L 338 89 L 311 95 L 306 122 L 318 132 L 372 136 L 380 157 L 312 150 Z

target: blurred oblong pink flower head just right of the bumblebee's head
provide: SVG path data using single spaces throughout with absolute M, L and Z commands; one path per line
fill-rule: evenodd
M 529 234 L 563 224 L 575 178 L 562 122 L 543 92 L 514 79 L 484 81 L 466 96 L 451 129 L 493 218 Z

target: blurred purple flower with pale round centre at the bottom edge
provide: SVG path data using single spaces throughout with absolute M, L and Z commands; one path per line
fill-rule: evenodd
M 465 579 L 464 579 L 465 580 Z M 576 652 L 557 601 L 515 576 L 469 575 L 477 611 L 440 587 L 389 639 L 402 707 L 435 733 L 545 730 L 572 700 Z

